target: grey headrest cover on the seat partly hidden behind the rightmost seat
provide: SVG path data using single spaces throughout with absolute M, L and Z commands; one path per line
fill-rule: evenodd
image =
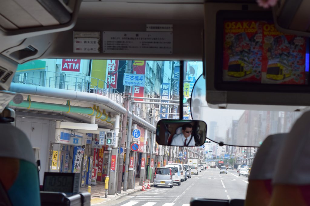
M 277 155 L 286 136 L 287 133 L 269 135 L 263 141 L 255 155 L 249 180 L 272 179 Z

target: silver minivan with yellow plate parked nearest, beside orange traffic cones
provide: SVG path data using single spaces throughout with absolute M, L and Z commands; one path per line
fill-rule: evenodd
M 171 168 L 157 167 L 154 173 L 154 187 L 158 185 L 167 185 L 173 187 L 173 174 Z

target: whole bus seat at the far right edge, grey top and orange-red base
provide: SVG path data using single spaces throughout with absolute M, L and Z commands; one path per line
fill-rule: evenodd
M 279 152 L 271 204 L 310 205 L 310 111 L 293 125 Z

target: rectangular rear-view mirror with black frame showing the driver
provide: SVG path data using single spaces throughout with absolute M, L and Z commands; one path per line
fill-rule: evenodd
M 207 124 L 199 120 L 160 120 L 156 141 L 169 146 L 201 146 L 205 143 Z

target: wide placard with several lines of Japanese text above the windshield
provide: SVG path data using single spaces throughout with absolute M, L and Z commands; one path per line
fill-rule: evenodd
M 102 32 L 103 53 L 172 54 L 172 32 Z

